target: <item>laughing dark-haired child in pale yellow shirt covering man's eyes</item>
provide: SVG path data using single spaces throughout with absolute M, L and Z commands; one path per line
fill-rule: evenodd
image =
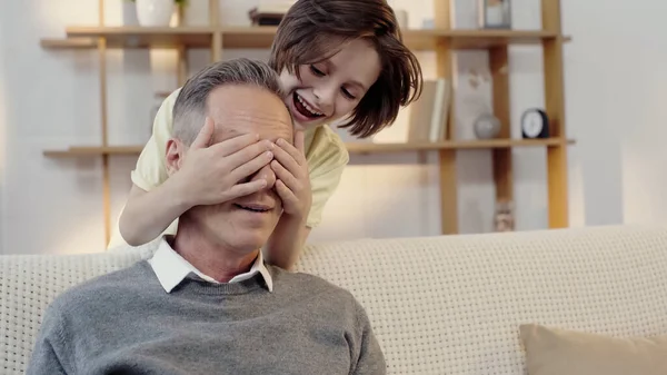
M 280 73 L 287 93 L 283 100 L 297 130 L 293 146 L 246 136 L 209 147 L 215 126 L 205 126 L 192 146 L 198 148 L 197 162 L 167 180 L 162 160 L 179 93 L 175 91 L 162 103 L 132 171 L 133 186 L 110 247 L 173 234 L 187 209 L 261 189 L 262 179 L 250 177 L 270 164 L 283 214 L 266 246 L 267 260 L 290 269 L 349 160 L 328 124 L 348 117 L 341 128 L 370 137 L 396 120 L 422 83 L 419 62 L 402 43 L 385 0 L 297 1 L 278 27 L 269 65 Z

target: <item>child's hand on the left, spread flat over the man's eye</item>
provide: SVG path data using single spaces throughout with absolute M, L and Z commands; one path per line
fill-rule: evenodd
M 182 199 L 189 207 L 217 205 L 262 189 L 267 181 L 242 182 L 273 159 L 271 141 L 259 141 L 256 134 L 243 135 L 210 145 L 215 131 L 212 119 L 190 145 L 188 156 L 173 177 L 179 176 Z

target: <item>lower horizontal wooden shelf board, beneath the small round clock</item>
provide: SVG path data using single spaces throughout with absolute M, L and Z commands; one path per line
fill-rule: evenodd
M 491 139 L 491 140 L 459 140 L 441 142 L 409 142 L 409 144 L 366 144 L 348 142 L 346 147 L 350 154 L 386 154 L 406 151 L 428 151 L 442 149 L 494 149 L 512 147 L 549 147 L 573 145 L 574 140 L 550 139 Z M 47 150 L 48 157 L 84 157 L 103 155 L 130 155 L 137 156 L 143 146 L 107 146 L 107 147 L 70 147 L 62 150 Z

